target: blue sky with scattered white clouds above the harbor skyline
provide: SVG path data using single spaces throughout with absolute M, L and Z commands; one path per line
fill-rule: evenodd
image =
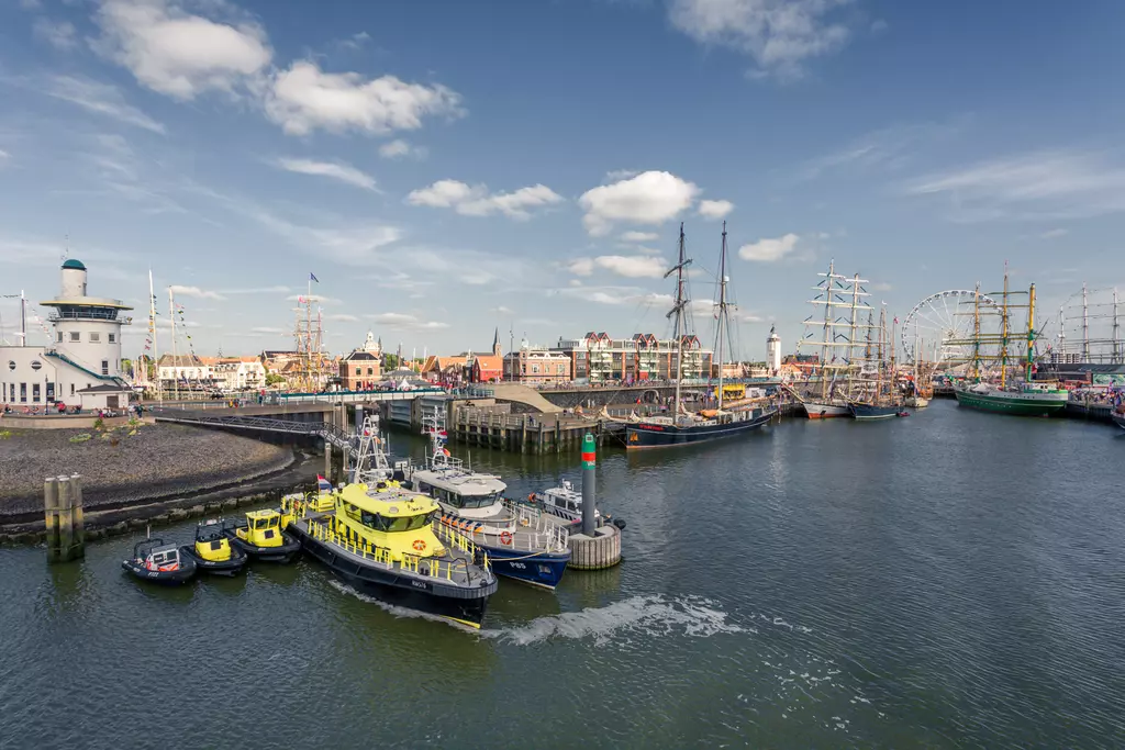
M 976 281 L 1125 292 L 1119 2 L 0 0 L 0 295 L 166 308 L 200 354 L 667 332 L 789 351 L 829 259 L 904 317 Z M 0 300 L 10 333 L 15 307 Z M 138 311 L 137 317 L 143 317 Z M 166 315 L 165 315 L 166 317 Z M 135 354 L 144 326 L 133 326 Z M 32 342 L 36 342 L 33 335 Z

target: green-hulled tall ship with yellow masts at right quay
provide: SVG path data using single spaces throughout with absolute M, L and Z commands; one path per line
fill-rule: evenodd
M 1015 295 L 1027 295 L 1027 305 L 1011 305 L 1009 298 Z M 992 296 L 992 295 L 990 295 Z M 1033 380 L 1035 364 L 1035 284 L 1026 292 L 1008 290 L 1008 272 L 1004 273 L 1004 291 L 1001 302 L 988 308 L 981 307 L 980 284 L 976 284 L 973 298 L 973 335 L 968 342 L 972 346 L 972 358 L 969 362 L 969 378 L 954 383 L 953 394 L 957 404 L 982 412 L 997 412 L 1017 416 L 1050 416 L 1063 409 L 1070 398 L 1069 391 L 1054 382 L 1035 382 Z M 1011 310 L 1027 308 L 1026 338 L 1023 356 L 1019 355 L 1019 334 L 1011 327 Z M 999 316 L 1000 332 L 983 333 L 982 317 Z M 988 350 L 994 345 L 994 359 L 988 358 Z M 986 350 L 982 353 L 982 349 Z M 1015 350 L 1015 351 L 1012 351 Z M 1009 377 L 1009 370 L 1023 368 L 1023 379 Z

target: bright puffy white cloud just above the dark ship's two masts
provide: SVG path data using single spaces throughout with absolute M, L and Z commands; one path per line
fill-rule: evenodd
M 669 172 L 642 172 L 628 180 L 587 190 L 578 199 L 583 224 L 594 236 L 609 234 L 615 222 L 663 224 L 686 210 L 699 188 Z

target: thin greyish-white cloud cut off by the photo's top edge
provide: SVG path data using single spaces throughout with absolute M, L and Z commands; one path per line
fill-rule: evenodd
M 839 51 L 850 33 L 829 20 L 849 0 L 672 0 L 672 25 L 695 42 L 750 55 L 752 78 L 795 80 L 810 57 Z

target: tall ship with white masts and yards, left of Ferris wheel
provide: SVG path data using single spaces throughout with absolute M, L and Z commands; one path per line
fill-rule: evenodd
M 814 386 L 799 394 L 804 413 L 810 419 L 829 419 L 852 416 L 849 395 L 853 379 L 861 377 L 860 362 L 855 355 L 858 332 L 870 327 L 860 322 L 863 311 L 871 313 L 865 299 L 868 292 L 866 279 L 858 274 L 846 277 L 836 272 L 835 260 L 829 261 L 828 272 L 817 274 L 821 280 L 812 287 L 816 296 L 809 300 L 818 308 L 816 315 L 804 320 L 807 328 L 820 328 L 820 340 L 813 333 L 798 342 L 802 347 L 819 349 L 820 379 Z M 822 315 L 819 309 L 822 308 Z M 844 315 L 846 310 L 846 315 Z

